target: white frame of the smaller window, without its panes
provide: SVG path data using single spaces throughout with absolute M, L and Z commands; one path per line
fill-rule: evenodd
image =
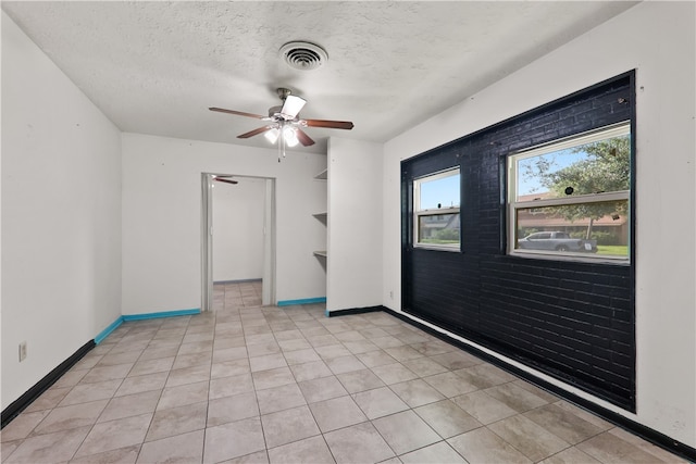
M 459 176 L 459 206 L 456 208 L 436 208 L 430 210 L 421 210 L 421 186 L 425 183 L 444 179 L 450 176 Z M 460 166 L 448 167 L 436 173 L 426 174 L 413 179 L 413 222 L 412 222 L 412 242 L 413 248 L 423 250 L 439 250 L 439 251 L 461 251 L 461 168 Z M 445 214 L 459 214 L 459 241 L 457 243 L 423 243 L 421 242 L 421 217 L 425 216 L 439 216 Z

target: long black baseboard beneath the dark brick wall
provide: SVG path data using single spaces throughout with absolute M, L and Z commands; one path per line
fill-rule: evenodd
M 434 328 L 420 323 L 417 319 L 413 319 L 411 317 L 408 317 L 407 315 L 396 312 L 394 310 L 390 310 L 388 308 L 382 306 L 384 308 L 383 311 L 391 314 L 393 316 L 411 324 L 412 326 L 415 326 L 418 328 L 420 328 L 421 330 L 439 338 L 440 340 L 455 346 L 468 353 L 471 353 L 473 355 L 475 355 L 476 358 L 480 358 L 517 377 L 523 378 L 524 380 L 529 381 L 530 384 L 535 385 L 536 387 L 548 391 L 559 398 L 562 398 L 563 400 L 567 400 L 573 404 L 575 404 L 576 406 L 584 409 L 586 411 L 592 412 L 595 415 L 598 415 L 599 417 L 604 418 L 607 422 L 610 422 L 621 428 L 624 428 L 629 431 L 631 431 L 632 434 L 660 447 L 666 449 L 667 451 L 674 453 L 687 461 L 691 462 L 696 462 L 696 448 L 692 448 L 686 443 L 682 443 L 681 441 L 674 440 L 671 437 L 668 437 L 667 435 L 657 431 L 655 429 L 651 429 L 650 427 L 647 427 L 643 424 L 639 424 L 635 421 L 632 421 L 619 413 L 616 413 L 611 410 L 608 410 L 606 407 L 602 407 L 600 405 L 598 405 L 597 403 L 594 403 L 585 398 L 579 397 L 574 393 L 569 392 L 568 390 L 564 390 L 560 387 L 558 387 L 557 385 L 550 384 L 546 380 L 543 380 L 538 377 L 536 377 L 535 375 L 523 371 L 519 367 L 515 367 L 513 365 L 510 365 L 508 363 L 506 363 L 505 361 L 486 353 L 485 351 L 478 350 L 475 347 L 472 347 L 471 344 L 464 343 L 460 340 L 457 340 L 456 338 L 452 338 L 450 336 L 448 336 L 447 334 L 443 334 L 439 330 L 435 330 Z

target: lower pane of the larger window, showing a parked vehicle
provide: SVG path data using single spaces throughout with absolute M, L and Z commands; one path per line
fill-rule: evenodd
M 627 200 L 523 208 L 515 249 L 629 258 L 629 225 Z

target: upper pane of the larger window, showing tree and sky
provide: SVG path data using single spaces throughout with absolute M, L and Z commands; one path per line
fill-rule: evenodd
M 631 189 L 629 134 L 542 153 L 517 159 L 515 201 Z

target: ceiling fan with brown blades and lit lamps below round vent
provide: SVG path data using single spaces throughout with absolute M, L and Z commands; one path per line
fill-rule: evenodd
M 283 101 L 283 104 L 270 108 L 268 116 L 214 106 L 209 108 L 209 110 L 216 111 L 219 113 L 254 117 L 257 120 L 268 122 L 265 126 L 241 134 L 237 136 L 237 138 L 245 139 L 258 136 L 259 134 L 264 134 L 271 143 L 275 143 L 279 140 L 278 153 L 282 153 L 283 156 L 285 156 L 286 146 L 295 147 L 298 142 L 302 143 L 304 147 L 314 145 L 314 140 L 312 140 L 312 138 L 302 130 L 304 127 L 322 127 L 327 129 L 346 130 L 350 130 L 353 127 L 353 124 L 349 121 L 302 120 L 298 114 L 307 101 L 303 98 L 291 95 L 291 91 L 284 87 L 278 88 L 276 91 L 281 101 Z

